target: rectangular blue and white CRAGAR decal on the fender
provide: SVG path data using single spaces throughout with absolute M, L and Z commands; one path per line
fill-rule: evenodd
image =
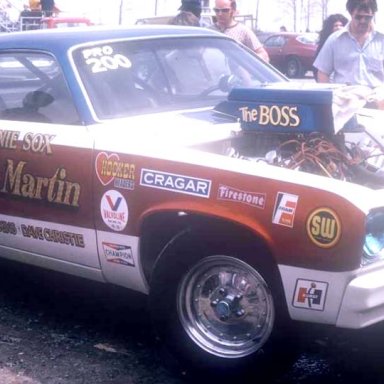
M 206 179 L 144 168 L 141 170 L 140 177 L 140 185 L 144 187 L 205 198 L 210 195 L 211 183 L 210 180 Z

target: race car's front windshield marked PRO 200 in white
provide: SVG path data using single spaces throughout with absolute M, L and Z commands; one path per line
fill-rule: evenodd
M 103 42 L 73 58 L 99 119 L 211 106 L 235 86 L 286 80 L 226 38 Z

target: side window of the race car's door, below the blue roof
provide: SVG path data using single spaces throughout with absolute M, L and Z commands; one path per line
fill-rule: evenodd
M 0 55 L 0 119 L 79 124 L 56 60 L 44 53 Z

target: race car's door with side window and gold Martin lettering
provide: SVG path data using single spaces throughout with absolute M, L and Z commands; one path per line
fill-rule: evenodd
M 55 58 L 1 53 L 1 256 L 83 274 L 100 269 L 92 148 Z

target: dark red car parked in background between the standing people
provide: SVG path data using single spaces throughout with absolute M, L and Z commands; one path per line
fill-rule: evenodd
M 317 33 L 282 32 L 264 41 L 270 62 L 288 77 L 303 77 L 312 69 L 316 54 Z

